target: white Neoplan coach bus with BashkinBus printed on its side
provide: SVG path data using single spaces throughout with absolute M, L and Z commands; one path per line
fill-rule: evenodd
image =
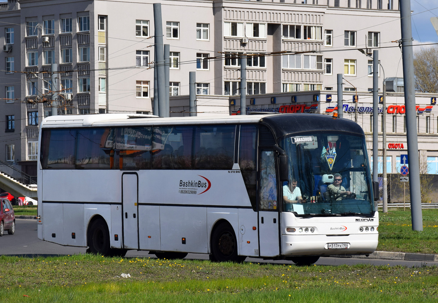
M 39 148 L 41 240 L 303 265 L 377 247 L 378 184 L 347 119 L 60 115 L 42 122 Z

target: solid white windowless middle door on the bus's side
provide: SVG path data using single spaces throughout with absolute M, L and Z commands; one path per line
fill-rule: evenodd
M 122 174 L 123 248 L 138 249 L 138 175 Z

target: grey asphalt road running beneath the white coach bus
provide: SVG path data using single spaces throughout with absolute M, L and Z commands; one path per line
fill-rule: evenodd
M 26 255 L 29 257 L 35 255 L 67 255 L 67 254 L 84 254 L 85 247 L 62 246 L 46 241 L 39 240 L 36 232 L 36 220 L 16 219 L 15 234 L 9 235 L 5 232 L 0 238 L 0 255 Z M 152 257 L 155 255 L 148 254 L 148 251 L 128 251 L 126 257 Z M 207 254 L 188 254 L 189 259 L 208 259 Z M 246 261 L 252 262 L 269 262 L 281 264 L 293 264 L 291 261 L 273 261 L 256 258 L 247 258 Z M 354 265 L 354 264 L 371 264 L 371 265 L 405 265 L 407 267 L 420 267 L 423 265 L 438 265 L 438 262 L 432 261 L 403 261 L 403 260 L 385 260 L 371 258 L 320 258 L 317 265 Z

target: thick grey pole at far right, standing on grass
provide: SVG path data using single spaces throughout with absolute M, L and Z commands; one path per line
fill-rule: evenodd
M 400 25 L 402 29 L 403 78 L 405 88 L 406 137 L 408 144 L 409 188 L 411 200 L 412 230 L 423 231 L 421 212 L 420 163 L 418 161 L 418 136 L 415 90 L 413 80 L 413 53 L 410 1 L 400 1 Z

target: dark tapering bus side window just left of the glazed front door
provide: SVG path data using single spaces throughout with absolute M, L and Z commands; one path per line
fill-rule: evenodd
M 240 125 L 239 167 L 254 211 L 257 200 L 256 140 L 257 125 Z

